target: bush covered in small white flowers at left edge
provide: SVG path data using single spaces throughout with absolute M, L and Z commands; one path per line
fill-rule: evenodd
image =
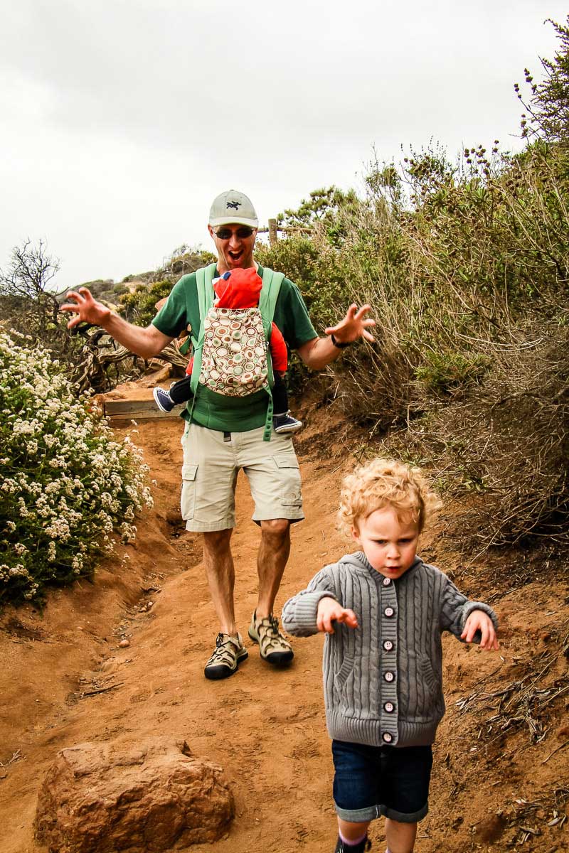
M 148 466 L 30 339 L 0 334 L 0 605 L 89 577 L 152 506 Z

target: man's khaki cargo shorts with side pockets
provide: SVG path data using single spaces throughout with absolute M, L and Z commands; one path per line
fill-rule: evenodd
M 181 509 L 187 530 L 204 533 L 235 527 L 235 483 L 241 468 L 255 502 L 253 521 L 304 519 L 292 439 L 273 432 L 270 441 L 263 441 L 263 432 L 264 427 L 218 432 L 186 424 Z

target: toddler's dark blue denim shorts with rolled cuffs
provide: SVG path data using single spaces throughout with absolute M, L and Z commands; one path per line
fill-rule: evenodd
M 427 815 L 433 766 L 430 746 L 367 746 L 332 741 L 334 805 L 354 823 L 385 815 L 416 823 Z

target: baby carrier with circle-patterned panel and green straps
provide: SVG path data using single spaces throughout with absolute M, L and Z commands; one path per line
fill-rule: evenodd
M 274 383 L 270 357 L 270 333 L 282 273 L 263 270 L 258 308 L 216 308 L 213 305 L 213 276 L 216 264 L 196 270 L 200 306 L 200 330 L 191 334 L 194 363 L 191 373 L 192 409 L 201 387 L 228 397 L 248 397 L 267 392 L 269 404 L 264 441 L 270 441 Z M 186 346 L 186 349 L 189 346 Z M 181 348 L 182 349 L 182 348 Z

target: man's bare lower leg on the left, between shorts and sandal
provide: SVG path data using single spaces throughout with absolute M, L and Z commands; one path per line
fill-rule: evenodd
M 204 533 L 204 568 L 212 595 L 213 606 L 218 614 L 219 630 L 235 636 L 235 566 L 231 554 L 233 530 Z

